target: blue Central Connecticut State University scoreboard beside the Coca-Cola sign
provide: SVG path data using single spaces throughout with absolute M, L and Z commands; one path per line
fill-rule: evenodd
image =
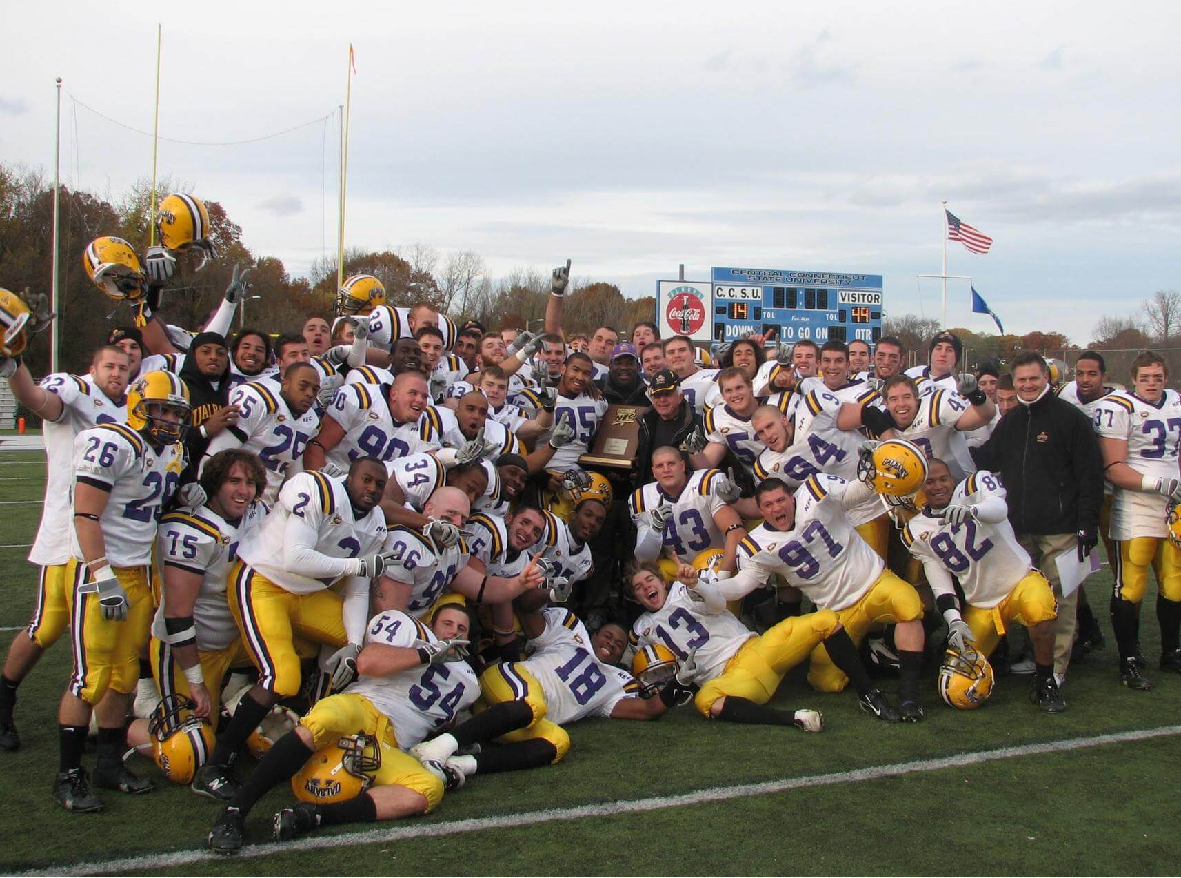
M 882 276 L 839 271 L 713 268 L 712 338 L 776 329 L 776 341 L 874 343 L 882 333 Z

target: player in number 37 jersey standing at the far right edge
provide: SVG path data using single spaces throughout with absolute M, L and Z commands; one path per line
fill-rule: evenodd
M 1164 358 L 1146 350 L 1131 361 L 1133 389 L 1108 394 L 1094 409 L 1105 476 L 1115 489 L 1111 628 L 1120 677 L 1140 690 L 1151 687 L 1140 667 L 1140 602 L 1149 568 L 1156 574 L 1161 670 L 1181 673 L 1181 549 L 1168 538 L 1173 507 L 1181 503 L 1181 395 L 1164 386 L 1168 374 Z

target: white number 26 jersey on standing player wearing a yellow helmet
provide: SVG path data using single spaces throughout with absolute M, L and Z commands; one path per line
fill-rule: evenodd
M 151 563 L 156 523 L 176 491 L 184 465 L 181 443 L 157 450 L 125 424 L 99 424 L 74 439 L 74 480 L 109 492 L 99 526 L 111 566 Z M 70 513 L 72 520 L 73 492 Z M 70 551 L 73 557 L 83 558 L 73 526 Z

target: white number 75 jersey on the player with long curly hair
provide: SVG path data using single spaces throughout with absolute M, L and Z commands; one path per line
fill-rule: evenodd
M 252 503 L 241 520 L 227 522 L 208 506 L 193 513 L 169 512 L 159 519 L 157 559 L 164 568 L 175 566 L 201 576 L 201 589 L 193 605 L 197 628 L 197 649 L 226 649 L 237 640 L 237 623 L 226 602 L 226 582 L 237 561 L 237 546 L 246 533 L 267 517 L 266 504 Z M 164 609 L 168 589 L 161 588 L 159 609 L 151 623 L 152 637 L 164 638 Z

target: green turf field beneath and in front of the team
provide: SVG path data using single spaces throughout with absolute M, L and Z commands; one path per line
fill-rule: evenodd
M 27 549 L 40 515 L 44 463 L 33 453 L 0 454 L 0 628 L 21 625 L 34 595 Z M 32 500 L 32 503 L 19 503 Z M 1088 583 L 1105 607 L 1107 568 Z M 1105 614 L 1104 614 L 1105 615 Z M 1104 628 L 1107 625 L 1104 624 Z M 1144 612 L 1144 649 L 1155 668 L 1155 618 Z M 17 631 L 0 631 L 5 649 Z M 68 649 L 58 643 L 20 689 L 24 747 L 0 753 L 0 872 L 112 864 L 119 873 L 171 874 L 779 874 L 921 873 L 1058 874 L 1176 871 L 1181 838 L 1172 793 L 1181 784 L 1181 729 L 1149 740 L 1066 752 L 1009 755 L 973 765 L 918 771 L 919 760 L 1074 741 L 1105 733 L 1168 728 L 1181 718 L 1181 679 L 1150 673 L 1149 693 L 1117 681 L 1114 646 L 1072 667 L 1064 714 L 1027 701 L 1029 677 L 1001 677 L 988 705 L 946 708 L 927 689 L 927 721 L 885 726 L 856 709 L 852 694 L 817 695 L 802 670 L 779 690 L 782 707 L 816 707 L 828 728 L 724 726 L 679 708 L 659 722 L 594 720 L 570 729 L 573 748 L 553 768 L 474 778 L 426 818 L 341 827 L 380 838 L 313 834 L 296 850 L 262 848 L 255 858 L 201 856 L 195 861 L 144 859 L 201 848 L 217 806 L 188 789 L 162 786 L 144 797 L 105 793 L 107 810 L 73 815 L 50 797 L 57 771 L 57 701 Z M 896 681 L 887 681 L 888 690 Z M 1076 743 L 1078 743 L 1076 741 Z M 1088 743 L 1083 741 L 1082 743 Z M 87 756 L 87 764 L 92 764 Z M 954 761 L 954 760 L 953 760 Z M 959 761 L 968 762 L 963 759 Z M 835 775 L 895 765 L 893 777 L 827 777 L 801 788 L 697 804 L 634 802 L 736 785 Z M 137 769 L 155 772 L 150 762 Z M 698 797 L 704 798 L 704 797 Z M 269 839 L 270 815 L 287 788 L 260 802 L 249 840 Z M 693 800 L 696 801 L 696 800 Z M 667 805 L 667 806 L 663 806 Z M 598 806 L 541 820 L 547 810 Z M 550 815 L 561 817 L 561 814 Z M 482 820 L 471 826 L 455 821 Z M 530 823 L 536 821 L 536 823 Z M 429 837 L 428 831 L 449 834 Z M 403 836 L 398 838 L 397 836 Z M 302 843 L 300 843 L 302 844 Z M 136 866 L 139 866 L 138 872 Z

